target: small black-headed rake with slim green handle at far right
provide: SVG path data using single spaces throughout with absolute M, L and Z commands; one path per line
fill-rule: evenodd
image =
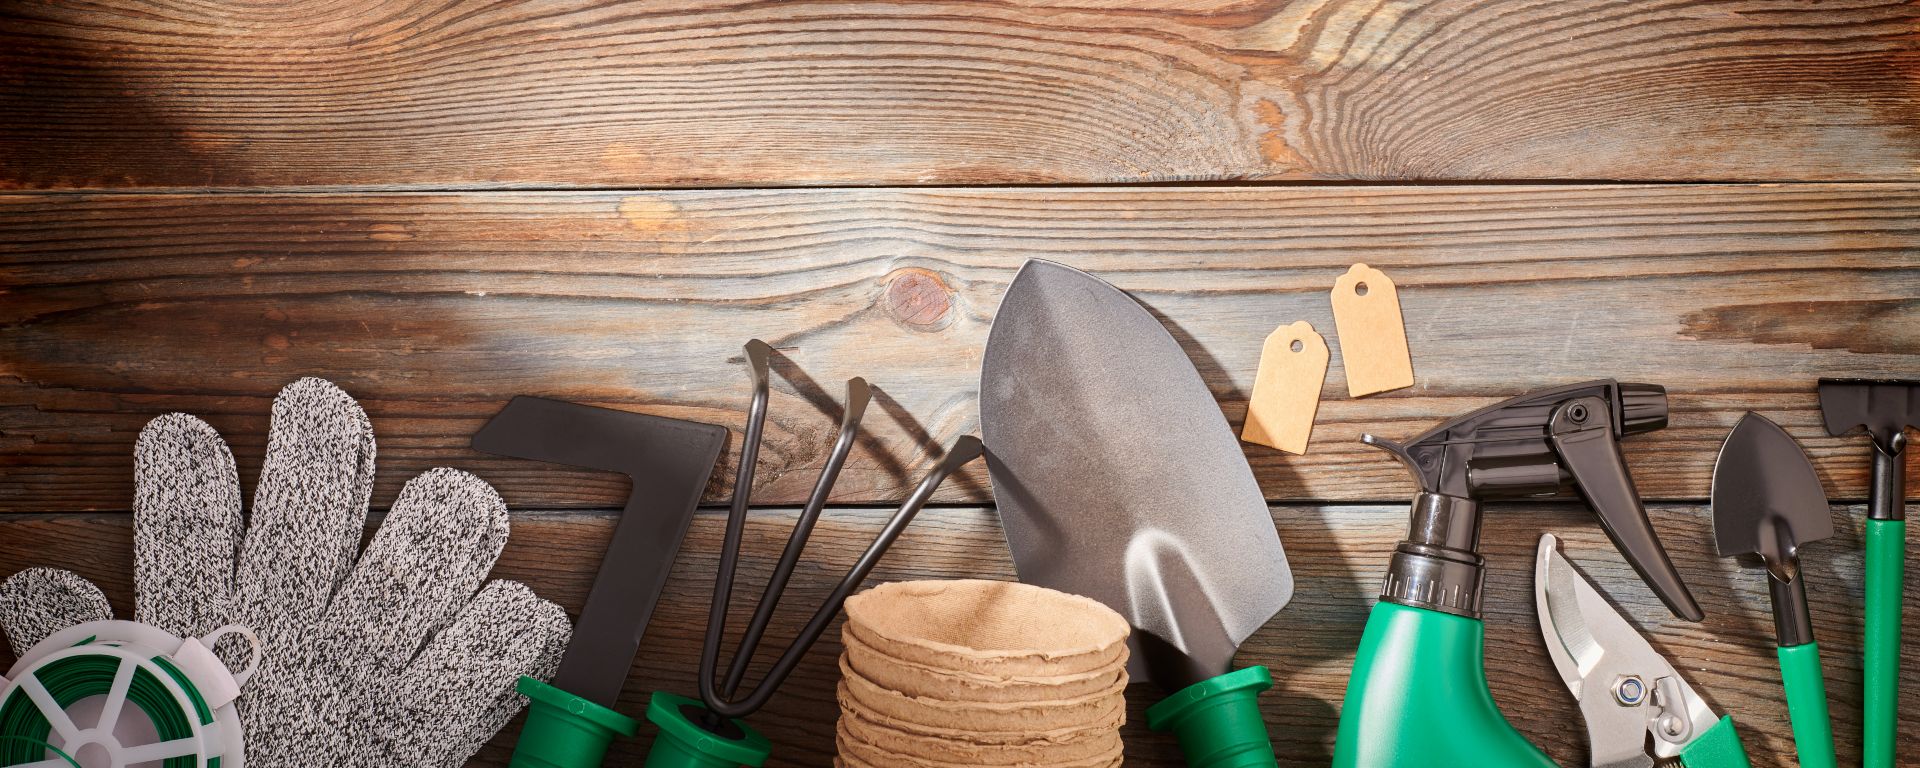
M 1866 649 L 1860 755 L 1864 768 L 1893 768 L 1901 678 L 1901 588 L 1907 580 L 1907 428 L 1920 426 L 1920 380 L 1820 380 L 1826 432 L 1864 426 L 1874 444 L 1866 486 Z

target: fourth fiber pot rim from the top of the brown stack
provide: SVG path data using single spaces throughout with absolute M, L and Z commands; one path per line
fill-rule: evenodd
M 910 755 L 968 766 L 1021 766 L 1094 760 L 1119 751 L 1119 730 L 1116 728 L 1069 732 L 1066 739 L 1050 739 L 1033 733 L 1004 733 L 1004 737 L 1010 739 L 1008 743 L 979 743 L 970 739 L 966 733 L 948 737 L 912 733 L 889 728 L 858 712 L 841 712 L 837 732 L 895 755 Z

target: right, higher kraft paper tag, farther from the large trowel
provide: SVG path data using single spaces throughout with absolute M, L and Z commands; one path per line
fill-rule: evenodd
M 1361 263 L 1340 275 L 1332 284 L 1332 326 L 1340 334 L 1348 396 L 1413 386 L 1400 292 L 1386 273 Z

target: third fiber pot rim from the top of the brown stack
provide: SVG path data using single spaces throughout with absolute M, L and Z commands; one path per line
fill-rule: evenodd
M 998 701 L 941 701 L 929 697 L 910 697 L 874 685 L 841 662 L 841 685 L 860 708 L 885 714 L 895 720 L 918 722 L 922 726 L 952 728 L 960 732 L 1048 732 L 1062 728 L 1087 728 L 1123 720 L 1127 714 L 1125 685 L 1112 691 L 1037 703 L 998 703 Z

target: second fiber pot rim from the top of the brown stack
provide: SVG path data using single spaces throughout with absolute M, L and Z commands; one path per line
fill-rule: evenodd
M 1127 682 L 1127 657 L 1092 672 L 1020 676 L 935 668 L 879 653 L 856 636 L 843 632 L 845 662 L 862 678 L 889 691 L 945 701 L 1050 701 L 1075 699 L 1112 689 Z

